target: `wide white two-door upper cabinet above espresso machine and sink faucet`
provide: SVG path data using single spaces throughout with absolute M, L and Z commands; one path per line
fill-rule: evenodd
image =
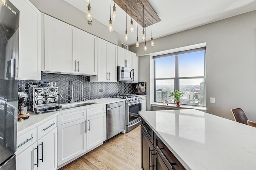
M 96 45 L 94 35 L 44 15 L 43 71 L 96 75 Z

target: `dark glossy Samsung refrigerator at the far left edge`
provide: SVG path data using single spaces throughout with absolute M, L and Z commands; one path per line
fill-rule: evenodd
M 0 170 L 16 169 L 19 14 L 0 0 Z

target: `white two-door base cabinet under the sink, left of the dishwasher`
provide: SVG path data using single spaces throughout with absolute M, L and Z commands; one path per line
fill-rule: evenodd
M 106 141 L 106 128 L 106 105 L 58 115 L 58 168 Z

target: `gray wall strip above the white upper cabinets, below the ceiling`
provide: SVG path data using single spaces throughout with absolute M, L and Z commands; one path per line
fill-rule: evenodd
M 118 44 L 116 31 L 109 32 L 106 25 L 94 18 L 92 25 L 89 25 L 86 14 L 64 0 L 30 0 L 30 2 L 44 14 L 69 23 L 110 43 Z

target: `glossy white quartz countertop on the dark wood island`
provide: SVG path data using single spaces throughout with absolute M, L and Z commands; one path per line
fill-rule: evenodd
M 256 169 L 255 127 L 196 109 L 139 114 L 188 170 Z

